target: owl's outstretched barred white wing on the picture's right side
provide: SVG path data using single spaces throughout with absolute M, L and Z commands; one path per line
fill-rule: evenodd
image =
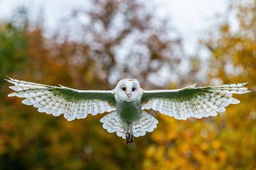
M 152 109 L 176 119 L 215 116 L 229 104 L 240 103 L 232 94 L 245 94 L 247 83 L 225 84 L 195 88 L 195 85 L 177 90 L 144 91 L 142 109 Z

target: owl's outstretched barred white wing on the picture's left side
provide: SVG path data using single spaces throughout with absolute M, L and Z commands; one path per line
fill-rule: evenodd
M 16 79 L 6 79 L 14 86 L 9 86 L 15 92 L 9 97 L 26 98 L 23 104 L 38 108 L 55 116 L 64 114 L 66 119 L 86 118 L 87 114 L 97 115 L 114 111 L 114 95 L 112 91 L 80 91 L 65 86 L 48 86 Z

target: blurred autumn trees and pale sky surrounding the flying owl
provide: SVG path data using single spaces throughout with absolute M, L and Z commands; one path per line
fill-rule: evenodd
M 103 115 L 38 113 L 6 76 L 75 89 L 144 89 L 250 81 L 214 118 L 157 114 L 128 146 Z M 256 169 L 255 0 L 0 0 L 0 169 Z

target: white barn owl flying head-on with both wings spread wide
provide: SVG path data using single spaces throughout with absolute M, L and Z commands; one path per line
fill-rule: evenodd
M 153 110 L 178 120 L 215 116 L 217 112 L 224 112 L 229 104 L 240 103 L 232 94 L 249 92 L 246 83 L 204 87 L 193 84 L 183 89 L 146 91 L 136 79 L 122 79 L 111 91 L 87 91 L 11 78 L 6 81 L 14 84 L 9 86 L 15 91 L 9 97 L 25 98 L 22 103 L 38 108 L 38 112 L 63 114 L 69 121 L 86 118 L 88 114 L 107 113 L 100 119 L 103 128 L 116 132 L 127 144 L 132 144 L 134 137 L 152 132 L 159 123 L 146 111 Z

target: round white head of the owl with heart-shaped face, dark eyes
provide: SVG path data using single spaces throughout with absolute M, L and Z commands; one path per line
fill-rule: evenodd
M 142 97 L 142 89 L 136 79 L 122 79 L 114 90 L 121 101 L 132 102 Z

